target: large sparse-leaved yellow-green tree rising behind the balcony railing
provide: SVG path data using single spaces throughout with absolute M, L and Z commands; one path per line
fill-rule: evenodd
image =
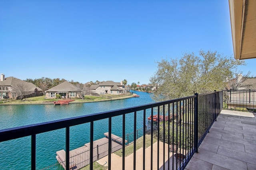
M 151 84 L 160 84 L 154 93 L 154 100 L 170 100 L 194 93 L 223 90 L 226 80 L 233 77 L 238 65 L 244 61 L 224 57 L 216 51 L 185 53 L 180 60 L 162 59 L 158 70 L 150 78 Z

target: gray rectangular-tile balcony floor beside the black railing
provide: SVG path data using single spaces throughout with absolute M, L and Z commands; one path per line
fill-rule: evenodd
M 256 170 L 256 113 L 222 110 L 186 170 Z

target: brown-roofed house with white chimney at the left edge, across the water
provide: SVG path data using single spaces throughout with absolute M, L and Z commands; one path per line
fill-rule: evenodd
M 24 91 L 23 93 L 26 95 L 32 94 L 30 96 L 24 96 L 24 98 L 43 95 L 42 89 L 36 87 L 36 85 L 31 82 L 26 82 L 15 77 L 5 78 L 4 74 L 0 75 L 0 98 L 4 98 L 4 96 L 8 96 L 9 98 L 17 98 L 19 96 L 17 93 L 18 88 L 22 88 Z

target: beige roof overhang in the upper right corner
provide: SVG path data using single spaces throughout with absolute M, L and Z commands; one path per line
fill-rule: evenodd
M 256 0 L 229 0 L 235 59 L 256 58 Z

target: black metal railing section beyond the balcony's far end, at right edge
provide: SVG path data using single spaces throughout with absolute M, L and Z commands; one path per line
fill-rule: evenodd
M 256 111 L 256 90 L 223 91 L 224 109 Z

